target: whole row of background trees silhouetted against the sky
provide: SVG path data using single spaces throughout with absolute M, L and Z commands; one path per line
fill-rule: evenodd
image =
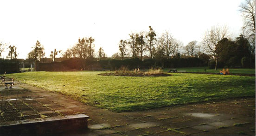
M 179 59 L 188 57 L 202 57 L 215 63 L 215 70 L 220 66 L 254 67 L 255 63 L 255 1 L 245 0 L 241 3 L 240 12 L 244 21 L 243 34 L 232 39 L 226 26 L 212 26 L 206 30 L 201 41 L 190 41 L 186 46 L 166 31 L 157 35 L 149 26 L 147 31 L 128 34 L 128 39 L 118 42 L 119 52 L 112 55 L 112 59 L 139 58 L 155 59 L 164 62 L 166 59 Z M 95 39 L 93 37 L 79 38 L 74 46 L 65 51 L 54 49 L 50 58 L 55 61 L 58 54 L 64 58 L 81 59 L 109 59 L 102 47 L 95 53 Z M 8 44 L 0 42 L 0 56 Z M 28 53 L 29 59 L 40 60 L 45 57 L 45 48 L 39 41 Z M 15 46 L 9 46 L 8 58 L 17 59 Z

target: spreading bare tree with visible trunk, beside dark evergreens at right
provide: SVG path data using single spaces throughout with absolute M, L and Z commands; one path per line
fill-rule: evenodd
M 202 39 L 202 47 L 208 55 L 215 59 L 215 70 L 217 70 L 218 54 L 216 53 L 216 46 L 218 42 L 224 38 L 228 38 L 228 29 L 226 26 L 212 26 L 211 30 L 207 30 Z

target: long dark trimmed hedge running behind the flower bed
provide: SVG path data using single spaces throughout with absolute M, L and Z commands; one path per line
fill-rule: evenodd
M 140 68 L 149 69 L 151 67 L 162 68 L 176 68 L 176 67 L 199 67 L 207 66 L 208 60 L 201 58 L 178 58 L 178 59 L 106 59 L 106 60 L 92 60 L 92 59 L 67 59 L 62 62 L 39 63 L 39 71 L 70 71 L 70 70 L 112 70 L 119 69 L 121 66 L 127 66 L 129 69 Z

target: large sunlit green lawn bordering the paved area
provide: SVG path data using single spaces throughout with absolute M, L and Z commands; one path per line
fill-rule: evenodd
M 116 112 L 255 96 L 255 77 L 189 73 L 172 73 L 169 77 L 97 75 L 102 72 L 39 71 L 7 76 Z

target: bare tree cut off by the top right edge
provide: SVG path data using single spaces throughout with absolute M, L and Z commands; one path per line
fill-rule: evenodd
M 248 37 L 251 42 L 250 50 L 255 54 L 255 0 L 245 0 L 239 7 L 243 17 L 243 35 Z

